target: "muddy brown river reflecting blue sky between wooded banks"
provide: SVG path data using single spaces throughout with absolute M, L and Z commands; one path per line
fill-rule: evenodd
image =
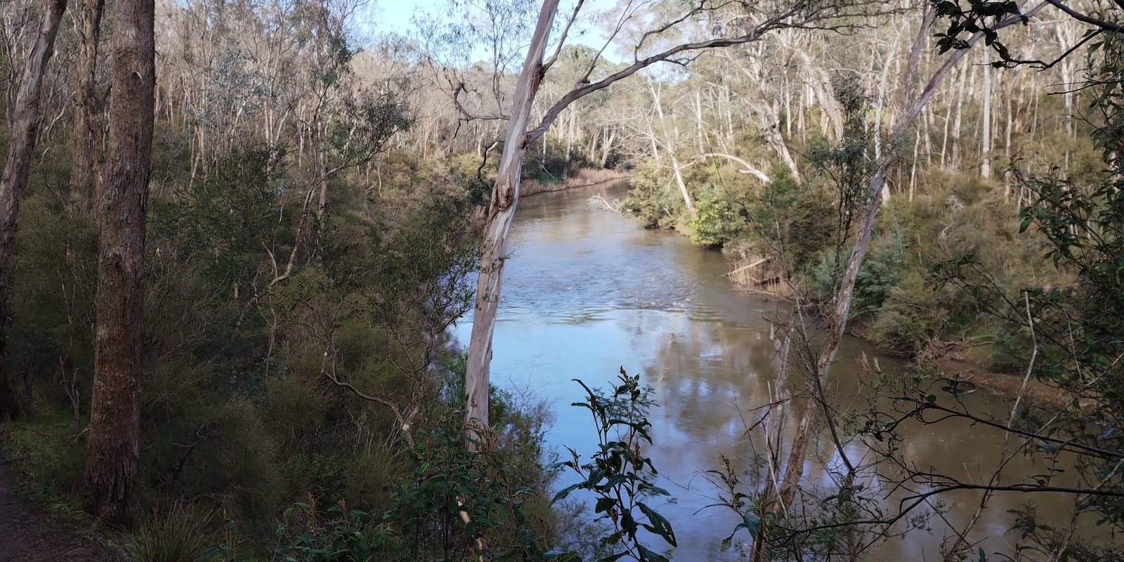
M 649 453 L 674 496 L 660 509 L 679 540 L 672 559 L 737 560 L 733 551 L 719 552 L 719 544 L 738 519 L 723 508 L 703 509 L 717 493 L 703 473 L 718 466 L 719 455 L 741 466 L 753 455 L 751 439 L 761 436 L 746 435 L 746 423 L 754 420 L 750 410 L 770 401 L 769 384 L 776 377 L 763 317 L 774 316 L 778 303 L 733 289 L 717 252 L 587 205 L 591 194 L 611 200 L 623 198 L 624 191 L 618 184 L 519 201 L 496 327 L 492 382 L 547 400 L 558 416 L 549 441 L 588 454 L 595 434 L 588 413 L 569 406 L 582 399 L 571 379 L 604 387 L 620 366 L 642 373 L 660 405 L 651 416 L 655 443 Z M 459 326 L 462 342 L 470 329 L 468 324 Z M 872 346 L 847 339 L 834 368 L 841 396 L 854 395 L 863 354 L 883 370 L 900 366 Z M 978 400 L 985 409 L 1008 408 L 995 398 Z M 903 448 L 919 468 L 976 481 L 990 474 L 1001 446 L 999 435 L 964 424 L 909 432 Z M 817 459 L 836 456 L 830 443 L 818 441 Z M 852 454 L 861 455 L 860 448 Z M 1043 466 L 1022 456 L 1007 469 L 1009 474 L 1042 472 Z M 823 461 L 809 460 L 806 474 L 812 484 L 825 483 Z M 572 479 L 563 474 L 560 483 Z M 953 524 L 967 522 L 978 506 L 975 492 L 944 499 L 952 502 L 946 517 Z M 1034 499 L 1048 511 L 1072 508 L 1064 498 Z M 1007 510 L 1025 501 L 1018 495 L 994 498 L 973 537 L 989 536 L 981 543 L 989 553 L 1009 551 L 1015 537 Z M 896 506 L 888 500 L 885 507 Z M 930 533 L 891 540 L 868 560 L 939 560 L 948 527 L 939 518 L 931 526 Z M 749 538 L 744 532 L 738 537 Z M 656 540 L 650 544 L 662 546 Z

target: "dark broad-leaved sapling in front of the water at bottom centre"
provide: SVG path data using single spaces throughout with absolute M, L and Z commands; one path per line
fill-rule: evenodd
M 655 486 L 655 466 L 641 453 L 642 442 L 652 444 L 647 433 L 652 426 L 647 420 L 652 390 L 641 388 L 640 377 L 629 377 L 624 368 L 618 380 L 619 384 L 614 387 L 611 393 L 602 393 L 580 380 L 575 381 L 586 390 L 586 400 L 573 406 L 586 408 L 592 415 L 598 451 L 590 462 L 581 464 L 578 452 L 569 450 L 573 459 L 556 466 L 570 469 L 580 481 L 563 488 L 551 502 L 559 502 L 575 490 L 593 495 L 593 511 L 599 519 L 611 522 L 614 531 L 601 538 L 601 545 L 608 547 L 610 554 L 601 558 L 600 562 L 614 562 L 625 556 L 638 562 L 668 562 L 667 556 L 644 546 L 637 536 L 643 527 L 672 547 L 678 545 L 668 519 L 645 504 L 645 499 L 670 496 Z

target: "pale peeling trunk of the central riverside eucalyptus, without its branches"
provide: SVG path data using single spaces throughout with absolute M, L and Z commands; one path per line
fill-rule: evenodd
M 523 157 L 527 152 L 527 123 L 531 108 L 542 83 L 543 54 L 550 39 L 559 0 L 545 0 L 538 13 L 538 24 L 527 49 L 527 60 L 515 84 L 511 119 L 507 124 L 504 153 L 496 174 L 488 223 L 484 226 L 484 250 L 480 257 L 480 275 L 477 280 L 477 308 L 472 317 L 472 336 L 469 342 L 469 362 L 464 388 L 468 392 L 465 422 L 470 427 L 487 428 L 488 389 L 490 384 L 492 333 L 496 329 L 496 311 L 499 308 L 500 281 L 504 259 L 507 253 L 507 235 L 515 217 L 515 205 L 519 200 L 519 174 Z

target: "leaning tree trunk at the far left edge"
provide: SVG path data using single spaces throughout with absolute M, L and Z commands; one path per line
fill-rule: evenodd
M 55 37 L 66 0 L 48 0 L 39 18 L 39 33 L 31 46 L 19 81 L 15 107 L 11 110 L 11 144 L 8 160 L 0 176 L 0 417 L 15 408 L 15 392 L 3 369 L 4 323 L 8 317 L 8 283 L 10 262 L 15 250 L 16 216 L 27 189 L 27 175 L 31 170 L 31 153 L 35 151 L 35 133 L 39 126 L 39 90 L 51 54 L 54 53 Z

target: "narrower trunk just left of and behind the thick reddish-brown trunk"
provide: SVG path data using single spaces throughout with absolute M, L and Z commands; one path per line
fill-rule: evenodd
M 74 88 L 74 154 L 71 156 L 71 197 L 89 206 L 93 200 L 93 102 L 98 70 L 98 38 L 106 0 L 83 0 L 79 27 L 78 83 Z

